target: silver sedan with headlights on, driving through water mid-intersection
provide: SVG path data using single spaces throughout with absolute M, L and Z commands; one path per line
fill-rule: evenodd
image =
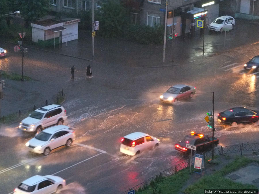
M 196 87 L 188 86 L 184 84 L 177 84 L 169 88 L 163 95 L 160 96 L 160 100 L 163 102 L 177 102 L 183 98 L 192 98 L 196 93 Z

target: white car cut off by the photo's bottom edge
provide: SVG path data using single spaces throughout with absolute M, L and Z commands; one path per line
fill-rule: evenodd
M 28 178 L 14 189 L 14 194 L 49 194 L 56 193 L 66 186 L 66 180 L 54 175 L 35 175 Z

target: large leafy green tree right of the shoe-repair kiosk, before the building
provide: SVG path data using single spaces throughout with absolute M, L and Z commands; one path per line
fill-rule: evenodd
M 100 33 L 105 37 L 122 35 L 123 28 L 129 23 L 129 14 L 119 1 L 108 0 L 96 14 L 99 20 Z

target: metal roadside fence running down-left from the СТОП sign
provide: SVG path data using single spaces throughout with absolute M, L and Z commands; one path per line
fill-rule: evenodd
M 129 188 L 128 191 L 131 191 L 131 190 L 138 190 L 139 188 L 145 188 L 147 187 L 148 185 L 150 185 L 151 181 L 155 181 L 159 178 L 162 178 L 162 177 L 168 177 L 168 176 L 171 176 L 173 174 L 176 174 L 177 172 L 179 172 L 180 170 L 184 169 L 184 168 L 187 168 L 187 167 L 190 167 L 190 159 L 188 160 L 185 160 L 179 164 L 175 164 L 173 167 L 171 168 L 168 168 L 166 170 L 164 170 L 163 172 L 160 172 L 159 174 L 157 174 L 156 176 L 153 176 L 147 180 L 144 180 L 144 182 L 132 187 L 132 188 Z M 127 194 L 128 191 L 124 191 L 122 192 L 121 194 Z

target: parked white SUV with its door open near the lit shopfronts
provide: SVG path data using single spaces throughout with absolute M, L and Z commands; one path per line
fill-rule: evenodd
M 209 30 L 223 32 L 223 28 L 232 30 L 235 26 L 235 19 L 232 16 L 220 16 L 209 25 Z

